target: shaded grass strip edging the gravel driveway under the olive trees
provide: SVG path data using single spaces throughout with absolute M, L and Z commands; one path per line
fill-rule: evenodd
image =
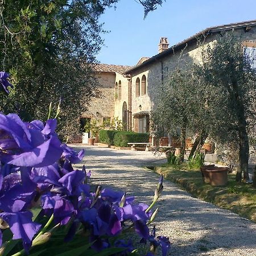
M 256 222 L 256 188 L 251 184 L 238 184 L 236 175 L 229 174 L 227 185 L 213 187 L 204 183 L 199 169 L 190 169 L 185 163 L 179 167 L 163 164 L 155 167 L 154 171 L 179 184 L 193 196 Z

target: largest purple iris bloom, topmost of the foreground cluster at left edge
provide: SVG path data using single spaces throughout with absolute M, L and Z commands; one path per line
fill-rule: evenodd
M 0 142 L 9 139 L 0 151 L 2 163 L 44 167 L 55 163 L 63 152 L 57 137 L 45 140 L 41 131 L 29 129 L 16 114 L 0 114 L 0 131 Z

